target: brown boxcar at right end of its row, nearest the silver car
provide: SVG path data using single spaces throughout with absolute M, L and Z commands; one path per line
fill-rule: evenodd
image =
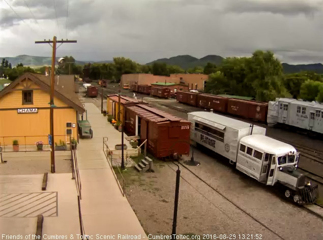
M 229 98 L 227 112 L 244 118 L 266 122 L 268 113 L 268 103 Z

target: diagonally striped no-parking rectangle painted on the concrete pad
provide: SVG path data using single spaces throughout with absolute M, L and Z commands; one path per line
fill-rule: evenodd
M 0 217 L 57 216 L 57 192 L 7 193 L 0 195 Z

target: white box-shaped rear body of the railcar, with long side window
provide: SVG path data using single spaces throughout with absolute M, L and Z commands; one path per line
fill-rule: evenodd
M 191 141 L 236 162 L 239 141 L 244 136 L 266 134 L 266 128 L 210 112 L 188 113 Z

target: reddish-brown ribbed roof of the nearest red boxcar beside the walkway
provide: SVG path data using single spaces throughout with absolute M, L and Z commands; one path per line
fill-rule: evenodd
M 137 104 L 135 106 L 130 106 L 127 108 L 135 112 L 139 117 L 152 122 L 164 122 L 164 121 L 187 122 L 182 118 L 175 117 L 171 114 L 165 113 L 155 108 L 148 107 L 146 105 Z

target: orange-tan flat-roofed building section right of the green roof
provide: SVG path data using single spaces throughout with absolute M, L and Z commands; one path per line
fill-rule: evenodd
M 180 83 L 189 86 L 189 90 L 204 91 L 205 82 L 209 80 L 209 75 L 205 74 L 170 74 L 170 78 L 179 78 Z

